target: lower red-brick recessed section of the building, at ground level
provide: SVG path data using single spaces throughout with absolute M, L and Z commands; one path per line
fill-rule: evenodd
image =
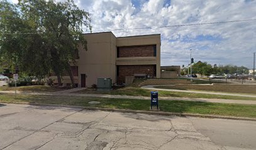
M 125 76 L 134 76 L 134 74 L 149 74 L 156 76 L 156 65 L 124 65 L 117 66 L 117 82 L 125 83 Z

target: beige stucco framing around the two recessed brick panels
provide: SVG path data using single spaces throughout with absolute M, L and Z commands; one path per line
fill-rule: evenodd
M 139 46 L 156 44 L 156 57 L 117 58 L 117 65 L 156 64 L 156 78 L 161 78 L 161 35 L 117 37 L 117 46 Z

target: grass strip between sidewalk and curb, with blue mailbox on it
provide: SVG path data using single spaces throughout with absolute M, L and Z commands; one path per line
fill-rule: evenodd
M 72 96 L 31 96 L 14 94 L 0 94 L 0 102 L 26 102 L 38 104 L 61 104 L 70 106 L 88 106 L 97 108 L 115 108 L 148 111 L 150 100 L 140 99 L 110 99 L 110 98 L 88 98 Z M 88 104 L 90 101 L 99 101 L 100 104 Z M 220 116 L 235 116 L 256 118 L 256 105 L 245 104 L 224 104 L 224 103 L 205 103 L 195 101 L 160 101 L 161 111 L 172 113 L 193 113 L 193 114 L 212 114 Z

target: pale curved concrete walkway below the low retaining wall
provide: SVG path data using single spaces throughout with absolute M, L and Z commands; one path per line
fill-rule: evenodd
M 155 91 L 173 91 L 173 92 L 183 92 L 183 93 L 200 93 L 200 94 L 213 94 L 213 95 L 224 95 L 224 96 L 242 96 L 248 98 L 256 98 L 256 95 L 250 94 L 235 94 L 235 93 L 218 93 L 218 92 L 206 92 L 206 91 L 188 91 L 188 90 L 179 90 L 179 89 L 159 89 L 154 88 L 155 86 L 168 86 L 168 85 L 147 85 L 142 86 L 142 89 L 151 89 Z M 255 90 L 256 93 L 256 90 Z

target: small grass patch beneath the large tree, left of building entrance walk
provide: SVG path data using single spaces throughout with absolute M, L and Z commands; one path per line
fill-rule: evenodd
M 18 86 L 17 91 L 21 92 L 38 92 L 38 93 L 52 93 L 56 91 L 65 90 L 63 88 L 56 88 L 53 86 Z M 0 91 L 15 91 L 15 87 L 1 86 Z

